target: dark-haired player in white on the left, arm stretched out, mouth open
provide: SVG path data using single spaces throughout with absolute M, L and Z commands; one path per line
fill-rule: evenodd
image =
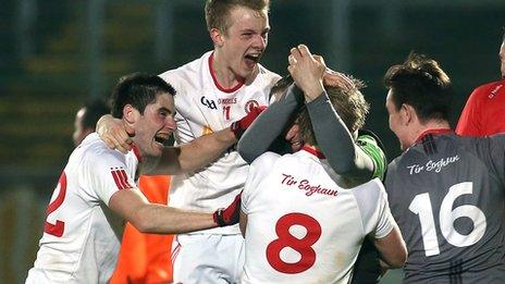
M 192 212 L 149 203 L 135 185 L 138 173 L 148 173 L 151 166 L 165 162 L 160 158 L 170 150 L 163 143 L 175 129 L 174 95 L 172 86 L 158 76 L 134 74 L 115 86 L 112 114 L 135 129 L 135 147 L 126 155 L 111 150 L 94 133 L 75 148 L 48 206 L 40 249 L 26 283 L 109 281 L 120 243 L 100 203 L 140 232 L 183 233 L 237 222 L 239 199 L 226 210 Z M 220 136 L 234 140 L 230 131 Z M 200 140 L 207 147 L 215 146 L 214 139 Z M 185 149 L 178 151 L 183 158 L 189 156 L 193 163 L 206 161 L 201 155 L 198 158 Z

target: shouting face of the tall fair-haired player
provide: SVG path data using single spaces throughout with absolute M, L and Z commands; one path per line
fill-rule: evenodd
M 267 48 L 268 12 L 236 7 L 230 11 L 229 17 L 226 30 L 211 29 L 215 44 L 213 67 L 218 77 L 233 75 L 237 81 L 244 81 L 254 74 Z

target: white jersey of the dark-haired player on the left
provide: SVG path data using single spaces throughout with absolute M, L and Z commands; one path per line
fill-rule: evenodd
M 120 242 L 100 207 L 135 185 L 138 159 L 109 149 L 96 133 L 70 156 L 49 203 L 26 283 L 108 283 Z

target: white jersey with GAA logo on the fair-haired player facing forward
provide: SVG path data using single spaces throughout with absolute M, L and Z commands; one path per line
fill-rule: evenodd
M 249 84 L 222 88 L 210 67 L 212 52 L 160 75 L 175 90 L 176 144 L 229 127 L 255 106 L 268 106 L 270 88 L 280 76 L 258 64 L 259 74 Z M 248 165 L 234 149 L 195 173 L 172 178 L 170 203 L 184 209 L 212 211 L 226 207 L 243 189 Z M 238 234 L 238 227 L 207 230 L 213 234 Z M 198 232 L 202 233 L 202 232 Z

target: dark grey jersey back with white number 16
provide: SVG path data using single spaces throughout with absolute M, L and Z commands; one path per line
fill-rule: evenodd
M 505 283 L 505 137 L 428 134 L 389 168 L 406 283 Z

